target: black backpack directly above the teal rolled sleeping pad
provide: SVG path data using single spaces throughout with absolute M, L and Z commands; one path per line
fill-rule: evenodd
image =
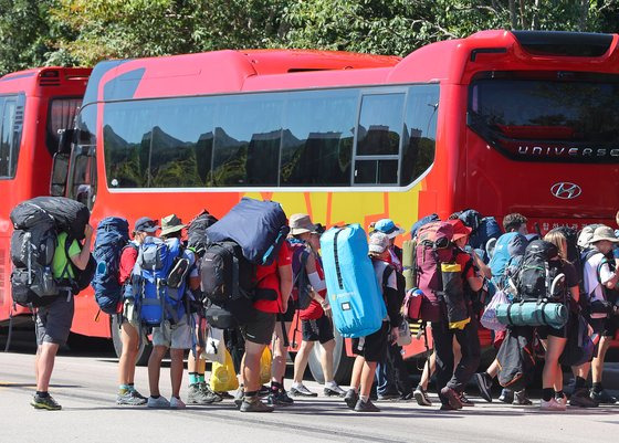
M 550 260 L 557 254 L 557 246 L 544 240 L 535 240 L 526 246 L 516 275 L 516 300 L 566 302 L 565 274 L 558 278 L 563 274 L 563 262 Z

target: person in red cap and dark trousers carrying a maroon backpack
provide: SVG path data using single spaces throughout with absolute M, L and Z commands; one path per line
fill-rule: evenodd
M 464 387 L 474 375 L 475 369 L 480 362 L 480 338 L 478 336 L 478 321 L 472 313 L 472 300 L 470 299 L 469 291 L 463 291 L 462 294 L 455 294 L 458 286 L 462 289 L 469 285 L 470 291 L 478 292 L 483 286 L 483 276 L 479 274 L 475 265 L 475 260 L 479 257 L 471 256 L 464 252 L 464 247 L 469 240 L 471 229 L 465 226 L 461 220 L 450 220 L 453 226 L 453 264 L 451 266 L 458 270 L 461 283 L 453 286 L 447 285 L 445 271 L 440 271 L 443 281 L 443 302 L 441 308 L 440 319 L 432 321 L 432 335 L 434 339 L 434 351 L 437 354 L 437 390 L 441 400 L 441 410 L 450 411 L 462 408 L 460 400 Z M 450 267 L 451 267 L 450 266 Z M 442 267 L 442 263 L 441 263 Z M 453 293 L 452 293 L 453 291 Z M 453 304 L 458 296 L 464 297 L 464 308 L 468 312 L 468 320 L 458 321 L 454 324 L 453 319 L 449 316 L 450 304 Z M 464 314 L 464 313 L 460 313 Z M 454 369 L 453 356 L 453 338 L 460 344 L 462 357 L 458 367 Z

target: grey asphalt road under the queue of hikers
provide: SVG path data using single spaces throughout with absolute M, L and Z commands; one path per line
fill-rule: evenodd
M 581 443 L 617 442 L 619 431 L 619 405 L 543 413 L 536 407 L 485 403 L 475 395 L 470 395 L 476 402 L 474 408 L 458 412 L 379 402 L 380 413 L 357 414 L 342 400 L 323 397 L 297 400 L 272 414 L 242 414 L 230 400 L 182 411 L 117 407 L 117 360 L 111 354 L 63 354 L 56 360 L 51 388 L 63 405 L 59 412 L 38 411 L 29 404 L 34 391 L 33 356 L 23 349 L 21 354 L 0 354 L 0 442 Z M 136 386 L 145 394 L 146 377 L 146 368 L 138 368 Z M 165 395 L 170 393 L 168 380 L 165 368 Z M 306 386 L 322 391 L 317 383 Z M 181 395 L 186 395 L 186 387 Z

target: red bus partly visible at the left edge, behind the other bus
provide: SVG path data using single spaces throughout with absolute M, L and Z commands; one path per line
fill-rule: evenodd
M 59 130 L 73 126 L 90 68 L 40 67 L 0 77 L 0 325 L 29 319 L 11 298 L 9 213 L 23 200 L 50 193 Z

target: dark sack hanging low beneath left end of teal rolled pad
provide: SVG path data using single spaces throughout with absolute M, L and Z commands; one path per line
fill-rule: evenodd
M 521 391 L 531 383 L 535 370 L 533 329 L 514 327 L 507 334 L 499 354 L 499 383 L 503 388 Z

